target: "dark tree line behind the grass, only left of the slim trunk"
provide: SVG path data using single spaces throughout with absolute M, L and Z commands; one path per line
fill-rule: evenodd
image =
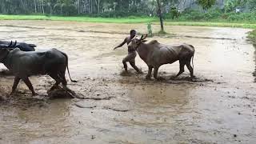
M 90 15 L 113 18 L 156 14 L 155 5 L 155 0 L 1 0 L 0 14 Z

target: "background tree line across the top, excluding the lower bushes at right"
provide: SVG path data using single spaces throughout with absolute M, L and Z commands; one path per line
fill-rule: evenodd
M 129 15 L 158 15 L 158 4 L 162 13 L 171 7 L 198 5 L 202 10 L 222 2 L 232 10 L 235 6 L 256 7 L 256 0 L 1 0 L 0 14 L 49 14 L 49 15 L 90 15 L 100 17 L 124 17 Z M 186 3 L 189 3 L 187 5 Z

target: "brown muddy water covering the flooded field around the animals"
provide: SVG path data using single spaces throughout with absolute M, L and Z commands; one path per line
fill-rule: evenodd
M 48 76 L 30 78 L 38 97 L 24 83 L 8 97 L 14 78 L 0 75 L 0 143 L 254 143 L 256 49 L 246 41 L 249 30 L 165 28 L 174 35 L 148 40 L 193 45 L 195 82 L 186 81 L 188 70 L 176 80 L 146 81 L 138 57 L 144 74 L 123 74 L 126 46 L 113 48 L 130 29 L 146 33 L 145 24 L 1 21 L 1 39 L 66 52 L 78 80 L 69 87 L 86 99 L 46 100 L 54 83 Z M 159 70 L 166 79 L 177 73 L 178 62 Z

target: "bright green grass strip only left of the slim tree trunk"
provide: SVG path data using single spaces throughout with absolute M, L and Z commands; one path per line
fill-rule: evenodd
M 52 20 L 74 22 L 105 22 L 105 23 L 146 23 L 157 21 L 156 18 L 90 18 L 90 17 L 61 17 L 45 15 L 0 15 L 0 20 Z

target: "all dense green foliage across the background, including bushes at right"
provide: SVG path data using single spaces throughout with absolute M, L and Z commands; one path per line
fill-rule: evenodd
M 165 19 L 175 21 L 250 21 L 254 22 L 256 0 L 161 0 Z M 198 6 L 194 6 L 198 4 Z M 184 6 L 183 6 L 184 5 Z M 192 6 L 192 7 L 191 7 Z M 194 6 L 194 7 L 193 7 Z M 212 8 L 210 8 L 212 6 Z M 202 10 L 201 9 L 205 9 Z M 240 7 L 242 13 L 235 14 Z M 0 14 L 34 14 L 121 18 L 158 16 L 156 0 L 1 0 Z

